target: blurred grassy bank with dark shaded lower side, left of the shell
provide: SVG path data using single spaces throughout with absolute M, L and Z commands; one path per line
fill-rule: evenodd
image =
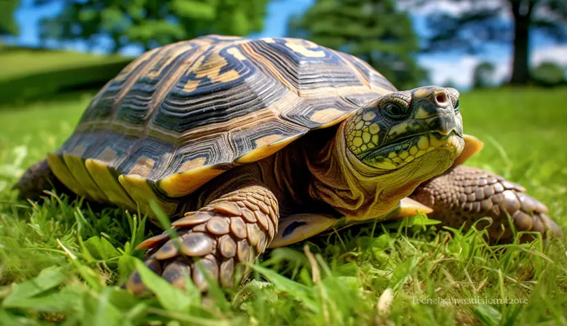
M 0 103 L 101 88 L 132 59 L 32 49 L 0 52 Z

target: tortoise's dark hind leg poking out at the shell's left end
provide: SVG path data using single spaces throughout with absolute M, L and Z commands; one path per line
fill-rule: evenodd
M 47 160 L 41 160 L 30 166 L 12 189 L 19 190 L 19 199 L 30 200 L 37 200 L 44 194 L 44 190 L 55 189 L 57 193 L 72 193 L 55 177 Z

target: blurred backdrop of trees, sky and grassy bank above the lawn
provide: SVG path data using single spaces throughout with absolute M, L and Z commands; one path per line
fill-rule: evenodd
M 209 33 L 311 39 L 398 88 L 566 81 L 565 0 L 1 0 L 0 102 L 95 90 L 141 52 Z

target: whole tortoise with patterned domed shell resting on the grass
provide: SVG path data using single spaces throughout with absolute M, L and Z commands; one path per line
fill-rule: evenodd
M 174 222 L 145 265 L 177 287 L 232 287 L 236 265 L 337 226 L 417 213 L 492 218 L 490 237 L 558 236 L 548 209 L 462 166 L 459 93 L 398 91 L 362 59 L 311 41 L 208 35 L 145 52 L 92 99 L 71 137 L 24 173 L 22 198 L 62 189 Z M 201 267 L 198 267 L 198 264 Z M 126 283 L 140 293 L 138 272 Z

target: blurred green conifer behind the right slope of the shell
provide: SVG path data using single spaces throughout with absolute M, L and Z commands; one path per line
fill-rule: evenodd
M 391 0 L 319 0 L 290 20 L 288 34 L 360 57 L 398 88 L 426 78 L 411 21 Z

